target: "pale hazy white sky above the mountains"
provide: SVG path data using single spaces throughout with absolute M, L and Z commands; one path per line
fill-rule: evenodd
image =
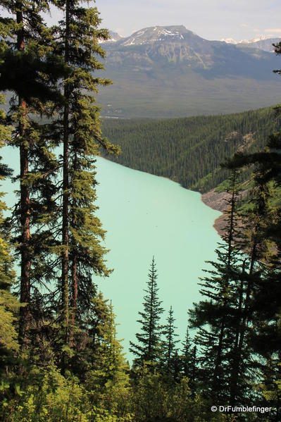
M 142 27 L 185 25 L 206 39 L 281 37 L 281 0 L 96 0 L 104 27 L 130 35 Z

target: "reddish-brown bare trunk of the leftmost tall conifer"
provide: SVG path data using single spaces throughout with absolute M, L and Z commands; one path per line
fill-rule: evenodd
M 25 36 L 23 28 L 23 4 L 17 2 L 16 20 L 21 25 L 17 33 L 17 49 L 25 49 Z M 20 307 L 19 337 L 21 345 L 27 346 L 27 332 L 30 327 L 30 190 L 27 185 L 28 174 L 28 144 L 24 139 L 26 104 L 25 100 L 18 97 L 20 108 L 20 122 L 18 132 L 20 136 L 20 302 L 25 306 Z

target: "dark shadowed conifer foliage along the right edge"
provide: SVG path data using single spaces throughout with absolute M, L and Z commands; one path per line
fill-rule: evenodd
M 277 108 L 279 112 L 279 108 Z M 258 356 L 263 379 L 263 395 L 277 409 L 270 421 L 280 417 L 280 132 L 268 137 L 266 149 L 254 154 L 235 156 L 236 168 L 252 168 L 253 209 L 249 223 L 248 249 L 254 264 L 249 269 L 240 338 L 246 337 Z M 271 206 L 275 204 L 275 206 Z M 249 230 L 251 228 L 251 230 Z M 240 342 L 241 343 L 241 342 Z M 241 347 L 240 347 L 241 350 Z M 243 356 L 236 356 L 236 365 Z M 236 368 L 236 383 L 238 378 Z

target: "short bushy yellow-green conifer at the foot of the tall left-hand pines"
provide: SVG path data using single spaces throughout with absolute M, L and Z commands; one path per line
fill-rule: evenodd
M 80 332 L 80 350 L 75 353 L 71 367 L 93 392 L 95 402 L 112 410 L 118 407 L 119 397 L 127 398 L 129 365 L 117 339 L 113 306 L 101 292 L 92 299 L 85 323 Z

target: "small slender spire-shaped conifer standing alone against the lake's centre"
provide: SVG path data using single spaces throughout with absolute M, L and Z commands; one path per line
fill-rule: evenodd
M 154 257 L 152 259 L 151 268 L 149 270 L 149 280 L 147 289 L 144 290 L 143 311 L 139 312 L 137 322 L 141 324 L 140 333 L 136 334 L 137 343 L 130 342 L 130 352 L 135 354 L 134 364 L 142 366 L 145 362 L 151 365 L 158 364 L 161 357 L 161 333 L 162 325 L 161 315 L 163 308 L 161 301 L 158 299 L 157 287 L 157 271 Z

